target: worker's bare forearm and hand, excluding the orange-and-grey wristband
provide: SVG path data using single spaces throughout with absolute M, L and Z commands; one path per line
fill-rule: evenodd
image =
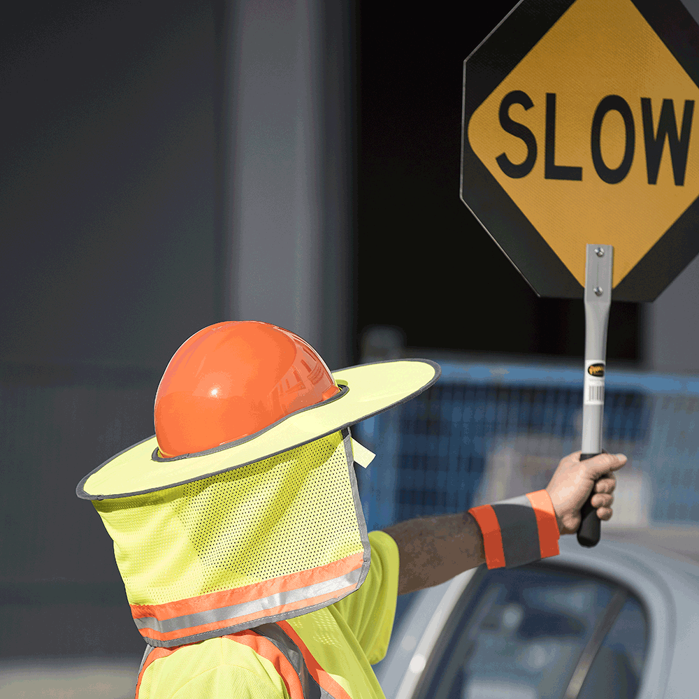
M 598 508 L 597 516 L 603 520 L 612 517 L 612 493 L 616 486 L 613 472 L 624 463 L 624 454 L 600 454 L 580 461 L 580 452 L 574 452 L 561 460 L 546 488 L 559 533 L 577 531 L 580 510 L 593 488 L 596 495 L 592 505 Z M 480 526 L 468 512 L 408 519 L 384 531 L 398 545 L 399 595 L 438 585 L 485 561 Z

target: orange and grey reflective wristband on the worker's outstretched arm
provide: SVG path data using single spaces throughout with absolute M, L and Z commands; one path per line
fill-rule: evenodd
M 545 490 L 468 512 L 483 535 L 488 568 L 514 568 L 559 554 L 559 525 Z

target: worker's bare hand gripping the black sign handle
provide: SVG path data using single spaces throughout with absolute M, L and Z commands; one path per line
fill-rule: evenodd
M 614 488 L 617 479 L 614 471 L 624 466 L 624 454 L 598 454 L 592 459 L 580 461 L 582 452 L 573 452 L 561 459 L 546 491 L 554 505 L 561 534 L 574 534 L 580 526 L 580 510 L 593 488 L 592 506 L 597 507 L 600 519 L 611 519 Z M 598 480 L 599 479 L 599 480 Z

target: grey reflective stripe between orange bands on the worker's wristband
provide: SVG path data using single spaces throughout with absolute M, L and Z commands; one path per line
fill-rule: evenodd
M 526 495 L 491 505 L 498 518 L 505 552 L 505 568 L 541 559 L 536 513 Z

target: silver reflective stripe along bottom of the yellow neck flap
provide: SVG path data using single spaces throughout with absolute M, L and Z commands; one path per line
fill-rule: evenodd
M 313 585 L 300 587 L 296 590 L 288 592 L 279 592 L 268 597 L 263 597 L 252 602 L 243 602 L 238 605 L 230 605 L 229 607 L 219 607 L 219 609 L 206 610 L 197 612 L 196 614 L 185 614 L 182 617 L 173 617 L 172 619 L 156 619 L 155 617 L 140 617 L 134 618 L 134 623 L 138 628 L 147 628 L 160 633 L 168 633 L 170 631 L 179 631 L 185 628 L 195 628 L 196 626 L 204 626 L 205 624 L 213 624 L 216 621 L 226 621 L 231 619 L 235 621 L 240 617 L 245 617 L 247 614 L 254 614 L 262 610 L 274 609 L 282 605 L 287 605 L 292 602 L 300 602 L 308 600 L 329 592 L 345 589 L 350 585 L 355 585 L 359 582 L 362 569 L 357 568 L 348 572 L 347 575 L 340 575 L 324 582 L 317 582 Z M 201 639 L 200 639 L 201 640 Z M 182 640 L 178 640 L 176 644 L 181 644 Z

